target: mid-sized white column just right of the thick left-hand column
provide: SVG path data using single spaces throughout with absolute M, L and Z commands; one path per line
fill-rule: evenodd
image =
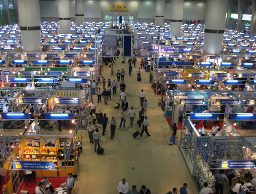
M 70 0 L 58 0 L 60 34 L 70 34 Z

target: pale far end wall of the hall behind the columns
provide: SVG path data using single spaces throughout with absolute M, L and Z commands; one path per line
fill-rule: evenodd
M 98 6 L 100 4 L 100 6 Z M 129 11 L 110 11 L 110 4 L 128 4 Z M 155 22 L 155 2 L 129 1 L 129 0 L 101 0 L 84 1 L 85 21 L 103 21 L 105 15 L 130 15 L 134 16 L 134 22 Z M 71 20 L 75 21 L 75 1 L 71 0 Z M 206 15 L 206 2 L 184 2 L 183 23 L 186 20 L 200 20 L 204 23 Z M 165 3 L 164 22 L 170 22 L 171 3 Z M 40 0 L 40 13 L 42 21 L 58 21 L 58 1 Z

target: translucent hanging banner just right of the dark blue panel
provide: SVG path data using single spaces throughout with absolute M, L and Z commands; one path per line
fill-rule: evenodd
M 138 56 L 152 56 L 152 36 L 140 36 L 138 38 Z

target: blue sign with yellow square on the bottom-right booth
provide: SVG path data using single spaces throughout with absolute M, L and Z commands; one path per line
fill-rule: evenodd
M 233 168 L 254 168 L 256 167 L 256 161 L 254 160 L 226 160 L 220 161 L 219 168 L 233 169 Z

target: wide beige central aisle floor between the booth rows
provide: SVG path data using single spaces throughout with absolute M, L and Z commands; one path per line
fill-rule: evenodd
M 118 193 L 117 185 L 126 178 L 129 188 L 136 185 L 140 190 L 142 185 L 149 188 L 152 194 L 165 194 L 172 191 L 173 187 L 188 184 L 187 191 L 189 194 L 197 193 L 193 180 L 187 169 L 186 163 L 176 145 L 168 145 L 171 136 L 169 124 L 158 102 L 161 96 L 156 96 L 149 82 L 149 73 L 142 69 L 142 81 L 137 81 L 136 70 L 139 68 L 140 60 L 138 59 L 136 67 L 133 66 L 132 75 L 128 71 L 128 59 L 124 64 L 122 58 L 117 59 L 114 63 L 114 75 L 110 75 L 111 68 L 103 67 L 102 75 L 105 80 L 117 81 L 117 70 L 125 70 L 124 82 L 126 84 L 126 99 L 128 102 L 127 112 L 134 107 L 136 118 L 134 126 L 130 127 L 130 119 L 126 119 L 126 129 L 118 129 L 121 120 L 121 105 L 115 109 L 113 105 L 120 98 L 120 88 L 117 88 L 117 95 L 112 95 L 111 100 L 104 104 L 101 100 L 97 103 L 95 95 L 94 103 L 98 110 L 106 113 L 109 120 L 114 116 L 117 120 L 116 133 L 113 140 L 110 139 L 110 125 L 107 125 L 106 133 L 102 136 L 102 128 L 99 128 L 101 140 L 103 141 L 104 155 L 98 155 L 94 152 L 94 144 L 89 143 L 88 133 L 83 130 L 83 152 L 80 155 L 78 180 L 74 189 L 77 193 L 90 194 L 113 194 Z M 103 80 L 100 78 L 101 81 Z M 99 85 L 102 88 L 102 84 Z M 148 132 L 143 137 L 133 138 L 134 132 L 141 131 L 136 121 L 139 119 L 141 90 L 146 93 L 148 101 Z M 113 94 L 113 92 L 112 92 Z M 79 133 L 78 133 L 79 134 Z M 180 131 L 177 136 L 180 136 Z

